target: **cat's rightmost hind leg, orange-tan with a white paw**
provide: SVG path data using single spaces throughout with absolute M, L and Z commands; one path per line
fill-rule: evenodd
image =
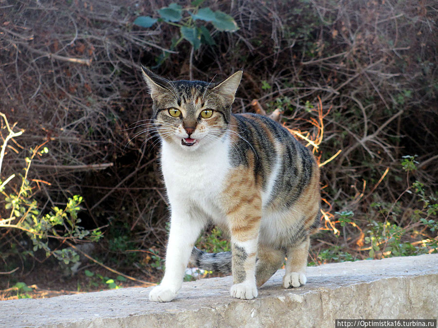
M 291 246 L 286 252 L 286 274 L 283 277 L 284 288 L 300 287 L 307 282 L 306 266 L 309 255 L 310 238 L 307 236 L 303 242 Z

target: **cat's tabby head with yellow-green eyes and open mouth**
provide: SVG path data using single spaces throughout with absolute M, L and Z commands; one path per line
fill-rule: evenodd
M 169 81 L 142 67 L 153 100 L 154 130 L 187 151 L 209 148 L 227 133 L 242 71 L 218 85 Z

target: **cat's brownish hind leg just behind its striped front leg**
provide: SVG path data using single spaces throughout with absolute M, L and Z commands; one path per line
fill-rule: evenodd
M 258 245 L 256 262 L 257 287 L 263 285 L 284 262 L 285 251 L 267 245 Z

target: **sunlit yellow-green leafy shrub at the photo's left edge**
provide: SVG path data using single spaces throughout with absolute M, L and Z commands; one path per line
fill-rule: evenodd
M 8 136 L 16 135 L 9 127 L 6 116 L 2 113 L 0 114 L 8 130 Z M 8 140 L 8 137 L 4 138 L 0 168 Z M 11 255 L 17 254 L 18 251 L 15 243 L 19 242 L 20 239 L 24 239 L 24 236 L 21 235 L 21 232 L 24 232 L 32 241 L 33 247 L 31 250 L 25 249 L 21 252 L 22 256 L 35 257 L 36 252 L 42 249 L 45 251 L 46 258 L 53 256 L 65 264 L 74 263 L 79 260 L 79 255 L 73 249 L 53 249 L 49 242 L 51 240 L 59 240 L 60 242 L 78 240 L 96 242 L 100 239 L 101 231 L 99 229 L 90 231 L 79 225 L 81 219 L 78 217 L 78 213 L 80 211 L 80 204 L 83 201 L 83 198 L 79 195 L 69 197 L 64 208 L 53 206 L 48 213 L 43 213 L 36 197 L 36 188 L 32 186 L 28 177 L 33 159 L 49 153 L 48 148 L 42 147 L 43 145 L 41 144 L 30 150 L 31 155 L 25 157 L 26 166 L 23 168 L 23 173 L 14 173 L 4 182 L 0 180 L 0 192 L 4 196 L 4 201 L 2 202 L 4 210 L 0 211 L 0 228 L 6 233 L 12 230 L 18 231 L 17 235 L 14 235 L 13 232 L 14 237 L 10 241 L 11 251 L 4 252 L 2 257 L 5 260 L 8 257 L 8 253 L 12 252 L 13 254 Z

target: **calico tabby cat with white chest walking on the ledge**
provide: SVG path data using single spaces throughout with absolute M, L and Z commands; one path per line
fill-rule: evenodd
M 287 129 L 257 114 L 232 114 L 242 71 L 218 85 L 169 81 L 146 67 L 152 127 L 161 139 L 161 169 L 170 204 L 165 273 L 149 300 L 169 302 L 189 259 L 233 275 L 231 296 L 252 299 L 285 264 L 285 288 L 306 283 L 309 236 L 319 229 L 319 167 Z M 194 244 L 216 224 L 231 253 Z

